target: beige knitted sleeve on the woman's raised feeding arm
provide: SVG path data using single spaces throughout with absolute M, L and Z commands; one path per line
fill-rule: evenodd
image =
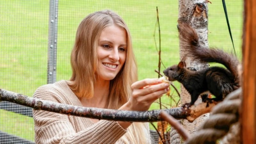
M 34 97 L 59 102 L 49 87 L 40 87 Z M 35 141 L 37 144 L 55 143 L 115 143 L 126 132 L 116 121 L 100 120 L 96 124 L 76 132 L 68 115 L 33 110 Z

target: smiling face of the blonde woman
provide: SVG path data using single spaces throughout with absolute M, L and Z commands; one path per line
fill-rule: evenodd
M 124 28 L 116 25 L 105 27 L 100 33 L 96 78 L 112 80 L 124 65 L 127 52 L 127 36 Z

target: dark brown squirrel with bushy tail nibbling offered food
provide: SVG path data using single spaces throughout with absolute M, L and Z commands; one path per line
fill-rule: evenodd
M 186 47 L 188 55 L 199 62 L 217 62 L 224 65 L 221 67 L 208 67 L 198 71 L 192 71 L 186 68 L 183 60 L 178 65 L 173 65 L 164 70 L 164 75 L 169 81 L 178 81 L 191 95 L 191 102 L 184 104 L 190 107 L 195 103 L 199 95 L 203 101 L 205 92 L 209 91 L 216 98 L 214 101 L 220 101 L 230 92 L 238 89 L 239 76 L 237 66 L 239 61 L 236 56 L 225 53 L 220 49 L 208 48 L 199 44 L 196 31 L 188 24 L 178 25 L 180 42 Z

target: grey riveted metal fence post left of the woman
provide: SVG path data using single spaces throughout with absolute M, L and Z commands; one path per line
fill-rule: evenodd
M 50 0 L 49 7 L 47 83 L 54 83 L 57 63 L 58 0 Z

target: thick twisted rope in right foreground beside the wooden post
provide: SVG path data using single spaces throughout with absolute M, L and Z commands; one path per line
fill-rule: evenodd
M 237 134 L 236 128 L 239 127 L 238 111 L 241 104 L 241 100 L 239 98 L 241 91 L 241 88 L 239 88 L 231 92 L 222 102 L 217 104 L 213 108 L 209 119 L 205 120 L 203 125 L 185 143 L 215 144 L 216 140 L 219 140 L 225 135 L 228 137 L 224 137 L 226 141 L 223 141 L 223 143 L 228 143 L 230 139 L 234 138 L 234 136 L 232 136 L 233 134 L 227 134 L 230 133 L 230 131 L 236 131 L 236 137 L 239 139 L 239 134 Z

